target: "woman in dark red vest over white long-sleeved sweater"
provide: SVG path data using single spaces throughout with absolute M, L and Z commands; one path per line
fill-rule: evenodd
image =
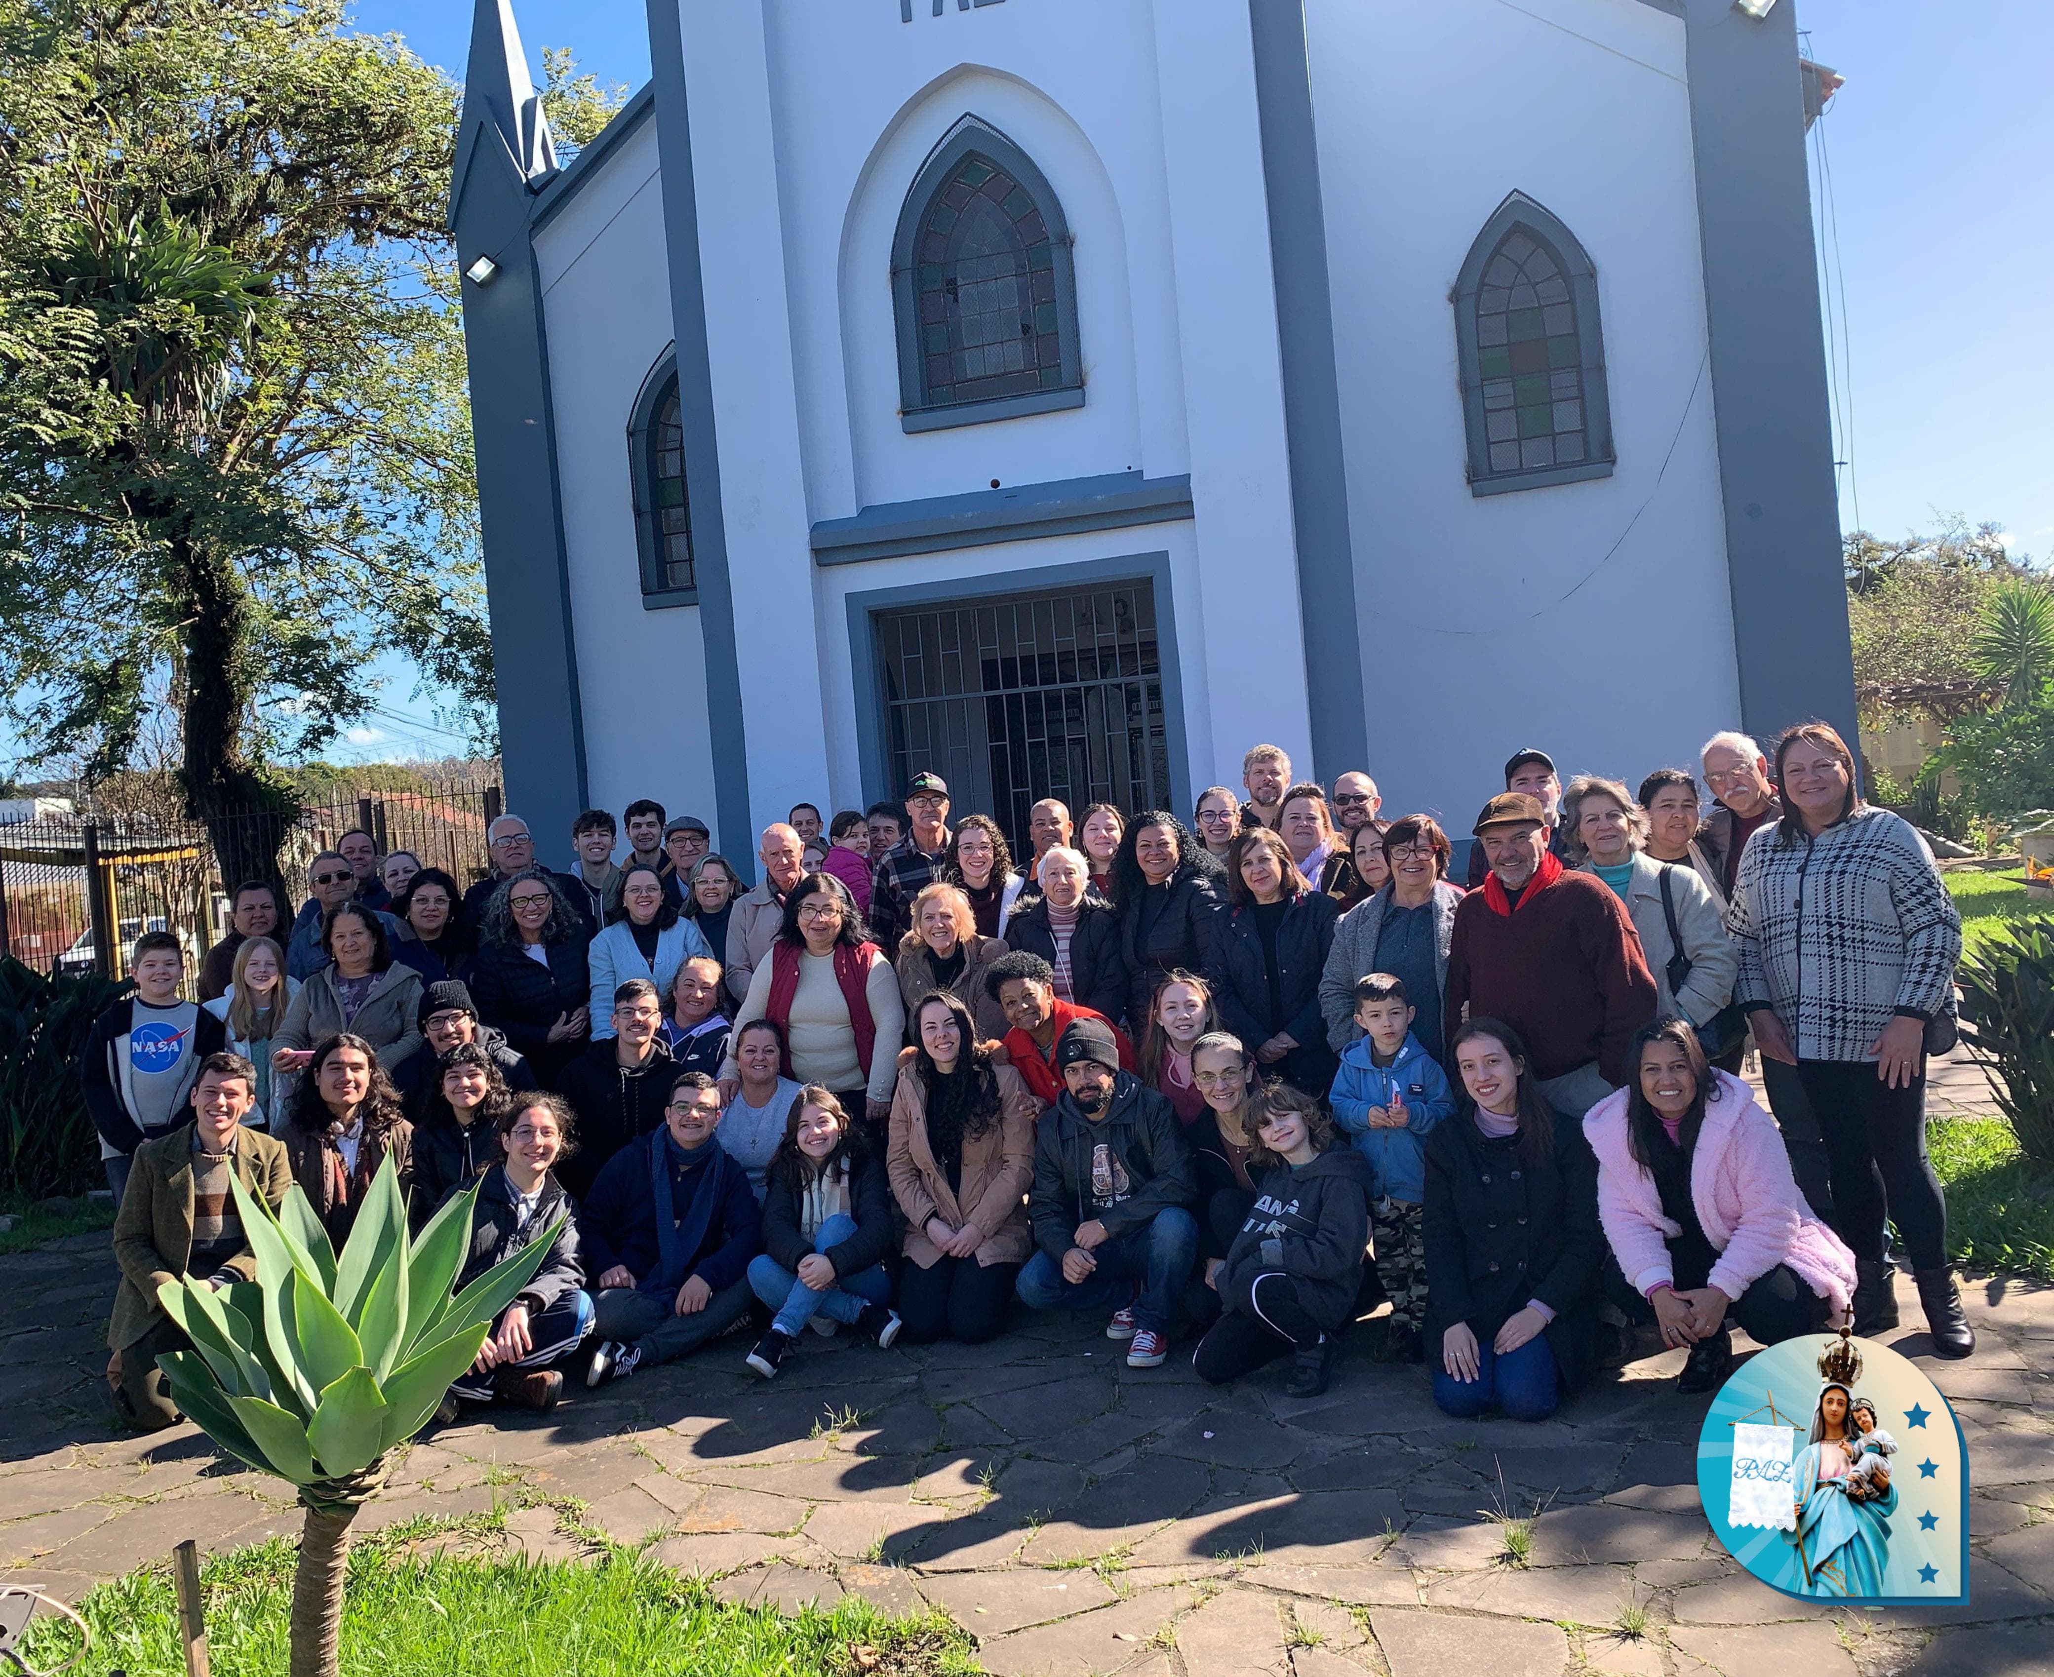
M 834 1090 L 844 1110 L 867 1113 L 877 1127 L 891 1115 L 906 1004 L 898 973 L 865 940 L 854 897 L 834 874 L 805 874 L 785 899 L 785 924 L 750 979 L 729 1041 L 752 1018 L 776 1020 L 785 1032 L 787 1078 Z M 739 1088 L 731 1059 L 721 1065 L 723 1098 L 729 1080 Z

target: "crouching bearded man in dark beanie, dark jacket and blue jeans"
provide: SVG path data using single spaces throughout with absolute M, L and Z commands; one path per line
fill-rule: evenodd
M 1197 1188 L 1169 1100 L 1119 1069 L 1101 1018 L 1074 1018 L 1056 1043 L 1062 1096 L 1033 1139 L 1035 1254 L 1015 1291 L 1033 1310 L 1119 1305 L 1105 1336 L 1128 1340 L 1128 1367 L 1169 1357 L 1169 1324 L 1197 1262 Z

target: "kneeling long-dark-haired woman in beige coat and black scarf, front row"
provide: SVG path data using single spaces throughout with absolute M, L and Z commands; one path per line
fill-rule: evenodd
M 1033 1248 L 1027 1182 L 1039 1102 L 976 1041 L 949 991 L 914 1010 L 920 1047 L 900 1055 L 885 1166 L 906 1213 L 898 1312 L 914 1344 L 982 1344 L 1006 1324 Z

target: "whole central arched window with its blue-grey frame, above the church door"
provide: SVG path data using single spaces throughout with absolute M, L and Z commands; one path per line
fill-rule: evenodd
M 891 248 L 908 431 L 1085 402 L 1070 230 L 1033 160 L 963 117 L 920 168 Z

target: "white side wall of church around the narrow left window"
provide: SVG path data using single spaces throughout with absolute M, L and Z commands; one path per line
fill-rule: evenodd
M 713 815 L 707 669 L 696 606 L 643 610 L 626 429 L 643 380 L 670 347 L 670 289 L 655 125 L 534 238 L 548 324 L 548 378 L 571 567 L 571 624 L 592 801 L 657 796 Z M 499 671 L 499 679 L 518 679 Z M 645 718 L 659 716 L 651 727 Z M 569 835 L 542 833 L 561 866 Z

